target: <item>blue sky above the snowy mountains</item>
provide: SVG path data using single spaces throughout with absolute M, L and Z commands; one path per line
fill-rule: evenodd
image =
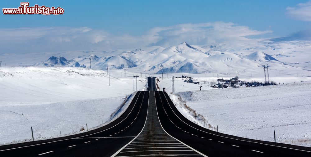
M 21 1 L 2 1 L 1 8 L 17 8 Z M 125 42 L 126 38 L 142 38 L 150 36 L 150 32 L 155 28 L 161 31 L 156 31 L 156 35 L 160 36 L 150 40 L 145 45 L 138 44 L 137 46 L 157 45 L 169 46 L 179 42 L 169 39 L 165 31 L 184 30 L 180 26 L 183 24 L 193 24 L 187 26 L 197 28 L 196 30 L 208 29 L 206 32 L 211 32 L 215 29 L 215 22 L 222 22 L 225 27 L 234 28 L 233 31 L 246 29 L 246 32 L 237 34 L 236 36 L 247 38 L 276 38 L 294 34 L 299 31 L 309 29 L 311 26 L 311 18 L 303 15 L 311 6 L 311 2 L 306 0 L 218 0 L 218 1 L 185 1 L 185 0 L 133 0 L 133 1 L 27 1 L 30 6 L 38 4 L 46 7 L 62 7 L 65 13 L 63 15 L 0 15 L 1 25 L 0 31 L 6 34 L 9 38 L 10 34 L 20 33 L 22 35 L 30 35 L 27 33 L 42 32 L 44 38 L 52 36 L 53 31 L 67 31 L 67 33 L 56 34 L 61 36 L 60 41 L 73 41 L 72 31 L 87 31 L 90 38 L 90 43 L 95 43 L 99 48 L 126 48 L 131 45 L 135 47 L 135 43 L 130 45 L 111 45 L 116 42 Z M 197 27 L 197 24 L 211 23 L 211 25 Z M 228 25 L 228 24 L 232 25 Z M 54 30 L 49 31 L 53 28 Z M 169 27 L 169 28 L 167 28 Z M 21 28 L 27 28 L 27 31 L 21 31 Z M 9 29 L 9 30 L 8 30 Z M 65 30 L 64 30 L 65 29 Z M 165 29 L 163 31 L 163 29 Z M 193 29 L 192 29 L 193 30 Z M 254 32 L 256 31 L 256 32 Z M 92 33 L 91 33 L 92 32 Z M 189 31 L 191 32 L 191 31 Z M 221 32 L 220 30 L 218 32 Z M 167 33 L 167 32 L 166 32 Z M 172 33 L 172 32 L 170 32 Z M 65 34 L 65 35 L 64 35 Z M 92 34 L 92 35 L 90 35 Z M 100 37 L 96 34 L 101 34 Z M 190 33 L 189 33 L 190 34 Z M 75 33 L 77 34 L 77 32 Z M 80 34 L 81 35 L 81 34 Z M 86 34 L 83 34 L 86 35 Z M 175 34 L 173 34 L 175 35 Z M 209 35 L 209 34 L 207 34 Z M 250 36 L 249 36 L 250 35 Z M 92 37 L 90 37 L 92 36 Z M 96 36 L 96 37 L 95 37 Z M 107 37 L 119 37 L 118 40 L 112 41 Z M 215 35 L 216 36 L 216 35 Z M 234 34 L 232 34 L 234 36 Z M 41 38 L 43 38 L 41 37 Z M 66 38 L 67 37 L 67 38 Z M 151 37 L 151 38 L 152 38 Z M 35 37 L 34 37 L 35 38 Z M 82 38 L 82 36 L 81 36 Z M 123 40 L 119 40 L 122 38 Z M 193 36 L 190 38 L 194 38 Z M 149 39 L 149 38 L 148 38 Z M 187 38 L 186 38 L 187 39 Z M 4 39 L 3 39 L 4 40 Z M 38 39 L 34 39 L 38 42 Z M 125 41 L 124 41 L 125 40 Z M 1 41 L 1 37 L 0 37 Z M 15 41 L 15 40 L 14 40 Z M 197 40 L 190 40 L 197 41 Z M 194 42 L 193 44 L 212 43 L 222 40 L 204 40 Z M 21 41 L 25 42 L 25 41 Z M 54 41 L 55 42 L 55 41 Z M 85 40 L 76 40 L 75 42 L 84 42 Z M 98 45 L 102 42 L 103 44 Z M 166 44 L 163 44 L 168 42 Z M 160 44 L 161 43 L 161 44 Z M 10 43 L 9 43 L 10 44 Z M 38 43 L 49 44 L 49 43 Z M 14 45 L 12 43 L 12 45 Z M 85 45 L 87 49 L 92 44 Z M 1 46 L 1 44 L 0 44 Z M 94 46 L 94 45 L 93 45 Z M 72 46 L 74 47 L 74 45 Z M 82 47 L 83 48 L 83 47 Z M 65 48 L 68 50 L 70 47 Z M 7 52 L 9 49 L 0 48 L 1 52 Z

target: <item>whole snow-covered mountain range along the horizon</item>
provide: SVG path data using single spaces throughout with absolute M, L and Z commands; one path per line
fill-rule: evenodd
M 218 45 L 151 46 L 109 52 L 60 52 L 40 54 L 33 66 L 90 67 L 98 70 L 127 69 L 143 73 L 255 74 L 263 65 L 286 74 L 310 73 L 311 41 L 250 40 Z M 29 55 L 29 54 L 28 54 Z M 31 54 L 30 54 L 31 55 Z M 38 54 L 33 54 L 38 55 Z M 18 55 L 17 55 L 18 56 Z M 8 57 L 6 54 L 0 58 Z M 47 60 L 44 58 L 48 58 Z M 90 60 L 91 59 L 91 60 Z M 22 62 L 21 62 L 22 63 Z M 25 64 L 25 63 L 23 63 Z

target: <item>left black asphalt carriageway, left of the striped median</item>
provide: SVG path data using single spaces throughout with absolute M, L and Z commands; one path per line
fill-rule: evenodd
M 141 132 L 148 91 L 139 91 L 113 122 L 88 132 L 48 140 L 0 146 L 0 156 L 111 156 Z

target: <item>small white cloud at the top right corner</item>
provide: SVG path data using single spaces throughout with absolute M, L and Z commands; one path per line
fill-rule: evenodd
M 296 7 L 287 7 L 287 14 L 294 19 L 311 21 L 311 1 L 299 3 Z

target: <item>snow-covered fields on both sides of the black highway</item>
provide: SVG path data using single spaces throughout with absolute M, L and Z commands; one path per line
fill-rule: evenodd
M 130 77 L 124 77 L 123 70 L 109 72 L 111 86 L 109 75 L 103 70 L 1 67 L 0 143 L 30 140 L 31 126 L 35 138 L 43 139 L 79 132 L 81 127 L 86 129 L 86 123 L 90 129 L 113 120 L 111 115 L 128 98 L 123 106 L 126 109 L 135 92 L 133 73 L 126 72 Z M 196 121 L 181 101 L 206 118 L 207 123 L 199 123 L 202 126 L 218 125 L 220 132 L 265 141 L 273 141 L 276 130 L 278 142 L 311 146 L 311 77 L 272 76 L 271 80 L 281 85 L 217 89 L 209 87 L 216 81 L 214 74 L 164 74 L 158 83 L 161 90 L 166 87 L 171 92 L 169 77 L 173 75 L 190 75 L 202 85 L 199 91 L 199 85 L 175 79 L 177 95 L 169 95 L 188 119 Z M 263 81 L 258 75 L 239 77 L 244 81 Z M 146 79 L 138 78 L 137 85 L 137 90 L 144 90 Z

